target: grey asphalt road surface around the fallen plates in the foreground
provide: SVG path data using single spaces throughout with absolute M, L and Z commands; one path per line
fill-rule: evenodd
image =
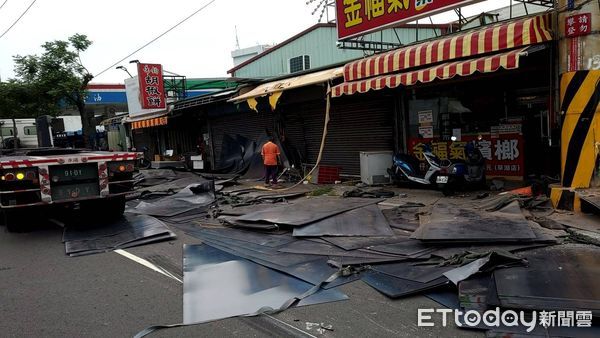
M 200 241 L 174 231 L 177 240 L 126 251 L 180 277 L 183 244 Z M 116 252 L 69 257 L 61 239 L 58 226 L 16 234 L 0 227 L 0 336 L 132 337 L 151 325 L 182 321 L 180 281 Z M 455 327 L 417 327 L 418 308 L 441 307 L 422 296 L 390 300 L 361 281 L 341 290 L 350 300 L 150 337 L 483 337 Z M 313 323 L 331 325 L 333 331 Z

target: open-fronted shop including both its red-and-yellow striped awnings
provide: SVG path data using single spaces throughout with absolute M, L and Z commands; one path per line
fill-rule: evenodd
M 425 145 L 441 159 L 464 159 L 466 143 L 481 136 L 489 177 L 556 175 L 549 27 L 549 15 L 529 17 L 349 63 L 332 105 L 346 96 L 393 95 L 405 136 L 397 146 L 421 160 Z

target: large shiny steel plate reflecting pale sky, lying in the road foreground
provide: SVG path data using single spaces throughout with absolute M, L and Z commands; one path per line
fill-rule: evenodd
M 279 309 L 313 285 L 207 245 L 185 245 L 183 322 L 193 324 Z M 320 290 L 297 305 L 348 299 Z

